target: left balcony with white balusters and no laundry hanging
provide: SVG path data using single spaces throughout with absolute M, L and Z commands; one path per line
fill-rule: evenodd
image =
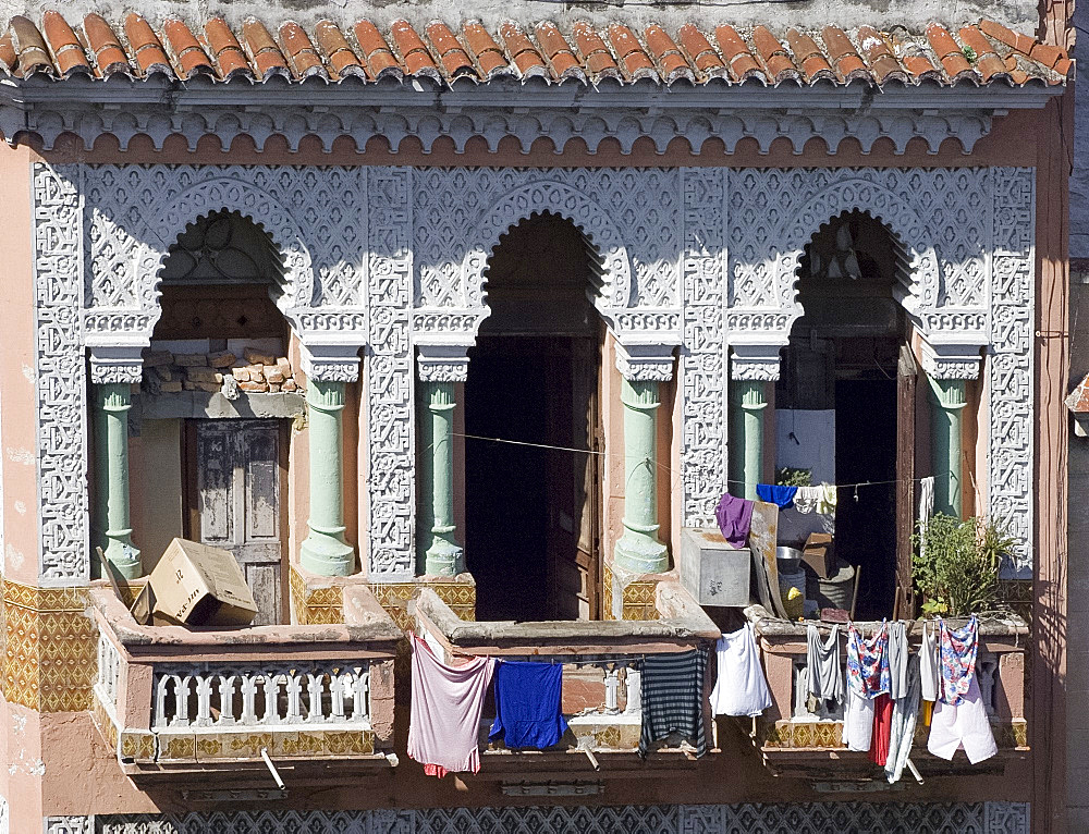
M 344 592 L 344 623 L 221 630 L 142 626 L 107 588 L 94 714 L 134 781 L 296 783 L 389 769 L 400 629 L 366 588 Z M 269 762 L 272 762 L 270 764 Z

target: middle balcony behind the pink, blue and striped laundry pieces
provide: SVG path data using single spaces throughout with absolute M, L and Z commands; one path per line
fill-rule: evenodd
M 646 762 L 638 759 L 643 725 L 640 661 L 647 654 L 702 647 L 710 650 L 708 661 L 713 664 L 720 631 L 678 585 L 660 582 L 654 608 L 658 620 L 467 623 L 435 591 L 423 590 L 411 606 L 415 631 L 444 662 L 487 654 L 564 666 L 562 710 L 570 731 L 560 744 L 537 751 L 511 750 L 501 741 L 489 743 L 494 715 L 489 699 L 480 727 L 484 756 L 479 777 L 547 777 L 558 772 L 571 776 L 584 771 L 631 771 L 661 763 L 674 770 L 688 762 L 694 765 L 693 751 L 686 746 L 671 746 L 669 739 Z M 710 734 L 709 708 L 705 725 Z

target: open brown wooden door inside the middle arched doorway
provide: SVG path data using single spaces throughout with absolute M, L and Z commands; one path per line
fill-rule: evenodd
M 601 456 L 598 344 L 558 339 L 548 368 L 549 609 L 558 620 L 598 620 Z

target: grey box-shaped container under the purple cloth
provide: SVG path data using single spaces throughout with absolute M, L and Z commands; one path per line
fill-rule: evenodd
M 681 584 L 700 605 L 749 604 L 752 555 L 731 548 L 718 530 L 686 527 L 681 531 Z

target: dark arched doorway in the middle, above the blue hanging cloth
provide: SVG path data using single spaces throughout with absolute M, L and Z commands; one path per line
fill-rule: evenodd
M 491 315 L 465 383 L 465 554 L 480 620 L 599 616 L 599 271 L 578 228 L 551 213 L 513 226 L 489 260 Z

